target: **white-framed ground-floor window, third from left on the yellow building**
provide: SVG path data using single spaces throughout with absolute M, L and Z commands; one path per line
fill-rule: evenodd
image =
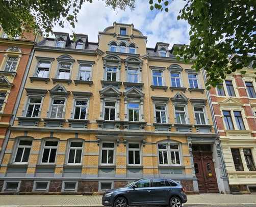
M 68 164 L 81 164 L 83 151 L 82 141 L 70 141 L 68 152 Z

